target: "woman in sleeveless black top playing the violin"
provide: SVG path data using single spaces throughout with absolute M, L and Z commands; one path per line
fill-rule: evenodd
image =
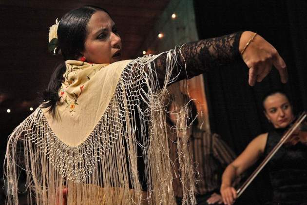
M 280 141 L 289 124 L 294 120 L 292 106 L 282 91 L 267 94 L 263 100 L 264 113 L 274 130 L 252 140 L 246 149 L 225 169 L 221 194 L 224 204 L 233 204 L 237 198 L 233 180 L 266 156 Z M 306 123 L 303 124 L 304 130 Z M 269 204 L 301 205 L 307 203 L 307 136 L 295 131 L 288 142 L 276 152 L 268 163 L 272 197 Z

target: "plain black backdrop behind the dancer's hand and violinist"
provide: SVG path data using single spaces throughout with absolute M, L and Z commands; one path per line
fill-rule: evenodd
M 273 70 L 263 82 L 250 87 L 242 60 L 205 75 L 211 130 L 240 154 L 254 137 L 271 129 L 261 103 L 269 90 L 284 90 L 295 113 L 307 110 L 307 1 L 194 0 L 194 8 L 200 39 L 254 31 L 279 51 L 288 66 L 286 84 Z M 267 181 L 268 173 L 263 170 L 238 204 L 264 204 L 270 191 Z

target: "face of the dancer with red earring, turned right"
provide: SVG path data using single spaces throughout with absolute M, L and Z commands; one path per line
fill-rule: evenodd
M 121 60 L 121 39 L 114 21 L 104 11 L 96 11 L 88 25 L 84 51 L 86 62 L 112 63 Z

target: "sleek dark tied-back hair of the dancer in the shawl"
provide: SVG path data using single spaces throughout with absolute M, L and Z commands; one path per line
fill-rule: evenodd
M 109 14 L 103 8 L 88 5 L 71 10 L 60 19 L 58 43 L 64 60 L 77 60 L 81 56 L 87 37 L 87 24 L 96 11 L 104 11 Z M 65 71 L 64 63 L 58 65 L 51 76 L 47 89 L 42 93 L 42 108 L 50 107 L 48 111 L 51 111 L 53 115 L 55 115 L 55 107 L 59 100 L 58 90 L 64 81 Z

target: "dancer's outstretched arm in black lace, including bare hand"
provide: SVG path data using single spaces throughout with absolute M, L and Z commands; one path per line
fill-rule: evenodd
M 253 32 L 245 31 L 218 38 L 189 42 L 175 49 L 179 66 L 173 69 L 176 81 L 190 79 L 214 67 L 233 62 L 240 58 L 241 51 L 253 36 Z M 256 35 L 242 55 L 243 61 L 249 67 L 249 84 L 261 82 L 268 75 L 272 65 L 278 69 L 281 81 L 287 82 L 287 69 L 283 59 L 276 49 Z M 160 85 L 164 82 L 167 64 L 167 53 L 155 60 L 157 78 Z M 183 68 L 186 68 L 183 69 Z

